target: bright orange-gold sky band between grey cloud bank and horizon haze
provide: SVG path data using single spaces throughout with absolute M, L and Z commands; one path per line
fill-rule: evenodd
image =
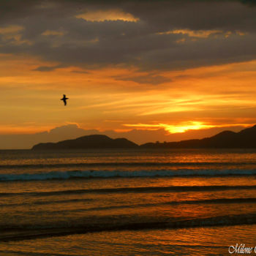
M 255 123 L 256 61 L 157 72 L 161 85 L 119 81 L 117 75 L 146 76 L 136 69 L 75 67 L 34 72 L 37 59 L 1 55 L 1 133 L 33 133 L 61 124 L 85 129 L 230 127 Z M 255 70 L 255 71 L 254 71 Z M 78 71 L 78 72 L 74 72 Z M 154 75 L 153 75 L 154 76 Z M 69 97 L 67 108 L 59 99 Z M 141 125 L 140 125 L 141 124 Z M 180 127 L 180 128 L 179 128 Z M 179 130 L 180 129 L 180 130 Z

